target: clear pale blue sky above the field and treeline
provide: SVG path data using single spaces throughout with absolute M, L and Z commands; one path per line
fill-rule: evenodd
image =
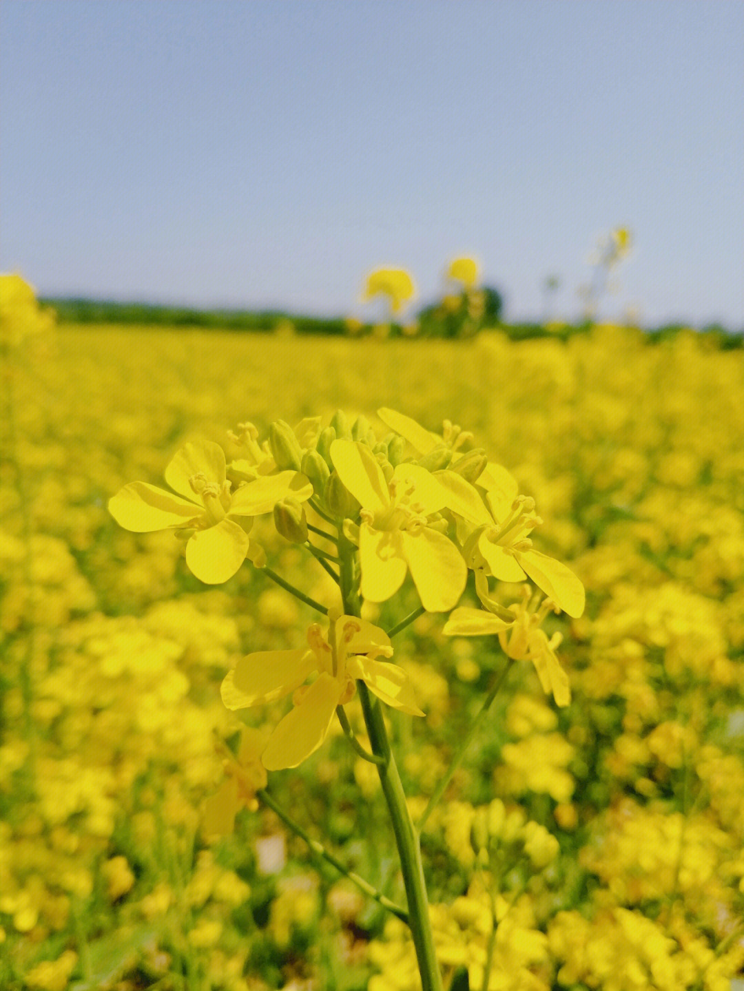
M 4 0 L 0 268 L 42 294 L 368 312 L 476 255 L 506 316 L 744 326 L 740 0 Z

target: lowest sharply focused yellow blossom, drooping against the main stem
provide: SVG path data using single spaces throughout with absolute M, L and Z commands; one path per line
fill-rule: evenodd
M 248 709 L 294 693 L 294 707 L 273 730 L 262 755 L 269 771 L 296 767 L 323 743 L 337 706 L 354 696 L 355 679 L 394 709 L 423 716 L 416 706 L 408 676 L 394 664 L 376 661 L 391 657 L 384 630 L 365 619 L 331 618 L 328 636 L 320 625 L 307 630 L 306 648 L 265 650 L 242 658 L 222 683 L 228 709 Z M 301 687 L 313 673 L 318 677 Z

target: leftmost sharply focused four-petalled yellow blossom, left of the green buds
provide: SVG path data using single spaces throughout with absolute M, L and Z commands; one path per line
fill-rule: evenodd
M 232 516 L 271 512 L 280 499 L 304 500 L 312 486 L 298 472 L 278 472 L 240 486 L 227 481 L 225 454 L 209 441 L 186 444 L 165 469 L 172 495 L 146 482 L 131 482 L 109 499 L 109 512 L 125 530 L 187 531 L 186 564 L 207 585 L 227 582 L 246 560 L 248 534 Z

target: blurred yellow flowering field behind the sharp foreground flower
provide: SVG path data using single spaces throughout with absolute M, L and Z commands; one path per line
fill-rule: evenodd
M 275 742 L 276 727 L 302 707 L 276 694 L 255 705 L 261 693 L 239 684 L 241 658 L 271 651 L 279 665 L 318 619 L 270 575 L 333 607 L 332 555 L 285 538 L 298 517 L 282 537 L 257 510 L 246 563 L 215 581 L 191 543 L 209 530 L 180 534 L 187 542 L 168 529 L 133 532 L 131 507 L 112 502 L 123 525 L 108 510 L 136 480 L 161 488 L 177 452 L 219 444 L 235 465 L 256 432 L 276 447 L 272 422 L 321 416 L 327 427 L 338 408 L 349 424 L 364 414 L 377 438 L 390 422 L 404 432 L 405 417 L 437 434 L 456 421 L 474 435 L 463 450 L 484 448 L 489 466 L 508 469 L 526 512 L 534 500 L 541 553 L 514 545 L 532 585 L 524 599 L 523 584 L 491 577 L 494 623 L 509 604 L 535 614 L 527 601 L 551 584 L 535 566 L 545 556 L 585 588 L 585 609 L 572 607 L 551 573 L 553 601 L 564 601 L 560 615 L 538 608 L 543 662 L 508 632 L 453 635 L 467 632 L 465 619 L 445 630 L 452 606 L 485 606 L 477 568 L 444 608 L 418 607 L 410 555 L 394 603 L 366 596 L 377 636 L 422 612 L 387 641 L 404 689 L 384 714 L 411 816 L 426 817 L 444 986 L 724 991 L 741 979 L 742 352 L 692 332 L 650 345 L 613 326 L 510 342 L 497 331 L 384 341 L 11 324 L 0 427 L 0 987 L 421 986 L 394 911 L 406 891 L 373 762 L 334 721 L 322 747 L 291 766 L 292 741 Z M 343 438 L 343 420 L 334 423 Z M 336 441 L 349 445 L 333 457 L 349 489 L 343 459 L 359 443 Z M 247 527 L 228 523 L 244 540 Z M 487 557 L 495 545 L 478 546 Z M 364 593 L 364 556 L 362 567 Z M 352 646 L 342 662 L 387 701 L 372 667 L 381 662 Z M 223 686 L 232 670 L 248 708 Z M 359 701 L 337 703 L 369 746 Z M 267 738 L 265 763 L 279 769 L 266 784 L 252 753 Z

